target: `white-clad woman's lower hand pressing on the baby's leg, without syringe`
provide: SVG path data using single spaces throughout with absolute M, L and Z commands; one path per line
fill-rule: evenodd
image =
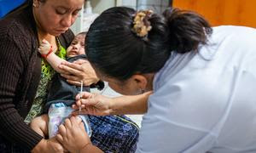
M 85 132 L 84 123 L 75 116 L 66 119 L 64 125 L 61 124 L 56 138 L 70 152 L 79 152 L 88 145 L 92 145 L 88 134 Z

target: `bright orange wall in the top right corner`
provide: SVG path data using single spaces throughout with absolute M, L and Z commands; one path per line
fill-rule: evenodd
M 172 0 L 172 6 L 196 11 L 212 26 L 256 27 L 255 0 Z

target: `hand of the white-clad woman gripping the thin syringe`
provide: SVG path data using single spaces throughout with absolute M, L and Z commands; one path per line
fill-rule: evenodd
M 92 94 L 83 92 L 76 97 L 76 105 L 73 105 L 74 115 L 78 114 L 90 114 L 94 116 L 108 116 L 111 115 L 111 98 L 103 96 L 101 94 Z M 79 107 L 81 111 L 79 112 Z

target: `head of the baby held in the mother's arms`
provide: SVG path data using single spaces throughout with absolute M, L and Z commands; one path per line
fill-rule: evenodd
M 74 37 L 70 46 L 67 48 L 67 57 L 77 56 L 79 54 L 85 54 L 84 40 L 86 32 L 80 32 Z

